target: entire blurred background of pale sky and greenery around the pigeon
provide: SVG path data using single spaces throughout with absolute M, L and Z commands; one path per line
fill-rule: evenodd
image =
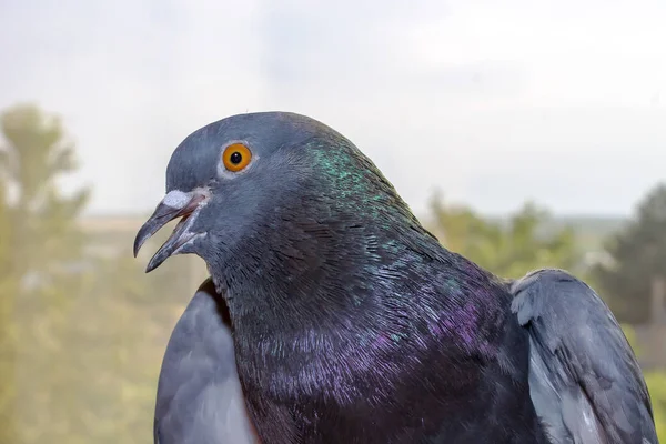
M 152 443 L 205 278 L 133 235 L 173 149 L 287 110 L 367 153 L 448 249 L 589 282 L 666 440 L 662 0 L 1 0 L 0 444 Z

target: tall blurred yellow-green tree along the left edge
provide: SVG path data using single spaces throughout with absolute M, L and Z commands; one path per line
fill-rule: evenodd
M 0 128 L 4 137 L 0 149 L 0 442 L 19 443 L 24 440 L 19 435 L 19 414 L 27 404 L 36 404 L 26 400 L 26 393 L 18 397 L 17 391 L 28 381 L 28 369 L 34 372 L 29 383 L 36 396 L 53 373 L 48 353 L 30 352 L 62 326 L 68 292 L 78 286 L 71 266 L 80 260 L 83 236 L 74 220 L 88 190 L 70 196 L 59 192 L 58 179 L 73 171 L 75 163 L 57 118 L 21 104 L 0 115 Z M 46 343 L 52 352 L 59 349 L 52 341 Z

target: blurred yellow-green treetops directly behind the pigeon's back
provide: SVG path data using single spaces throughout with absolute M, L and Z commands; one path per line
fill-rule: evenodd
M 432 231 L 450 250 L 505 278 L 549 266 L 575 271 L 581 254 L 571 228 L 547 232 L 548 213 L 526 203 L 507 222 L 478 216 L 470 208 L 431 200 Z

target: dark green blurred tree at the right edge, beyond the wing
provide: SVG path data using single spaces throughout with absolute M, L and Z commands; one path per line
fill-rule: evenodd
M 593 273 L 620 322 L 643 323 L 664 314 L 666 184 L 655 186 L 630 223 L 606 242 L 609 263 Z

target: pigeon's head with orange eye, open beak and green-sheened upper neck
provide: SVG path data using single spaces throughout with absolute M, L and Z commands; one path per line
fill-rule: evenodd
M 326 261 L 340 271 L 345 254 L 370 254 L 371 232 L 400 225 L 386 218 L 417 223 L 347 139 L 283 112 L 233 115 L 190 134 L 172 154 L 167 195 L 140 229 L 134 255 L 179 218 L 147 272 L 171 255 L 193 253 L 213 278 L 233 269 L 295 280 Z

